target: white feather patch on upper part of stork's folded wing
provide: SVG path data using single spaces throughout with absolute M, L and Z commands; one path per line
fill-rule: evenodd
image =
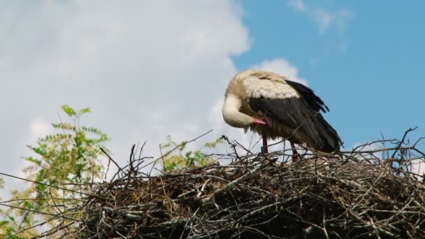
M 298 92 L 284 81 L 247 78 L 243 80 L 247 96 L 251 98 L 289 99 L 299 98 Z

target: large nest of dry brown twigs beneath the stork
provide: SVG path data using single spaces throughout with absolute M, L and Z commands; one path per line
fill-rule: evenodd
M 141 173 L 146 164 L 133 156 L 92 189 L 67 230 L 76 238 L 423 238 L 425 187 L 411 164 L 424 154 L 394 144 L 305 151 L 296 161 L 287 151 L 235 150 L 224 155 L 229 164 L 161 175 Z

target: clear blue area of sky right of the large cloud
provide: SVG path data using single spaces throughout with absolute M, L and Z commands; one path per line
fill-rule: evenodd
M 308 5 L 315 4 L 315 5 Z M 424 1 L 243 1 L 252 48 L 234 57 L 238 68 L 282 57 L 327 103 L 326 119 L 345 146 L 424 134 Z M 337 15 L 321 29 L 308 11 Z M 338 18 L 338 13 L 347 17 Z M 338 25 L 338 21 L 342 21 Z

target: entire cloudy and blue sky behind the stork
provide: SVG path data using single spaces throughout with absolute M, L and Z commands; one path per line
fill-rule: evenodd
M 171 135 L 202 145 L 222 134 L 230 78 L 263 68 L 308 84 L 346 147 L 405 129 L 425 135 L 424 1 L 1 1 L 1 172 L 20 175 L 24 145 L 52 133 L 60 106 L 124 164 Z M 244 141 L 245 140 L 245 141 Z M 195 146 L 193 146 L 195 147 Z M 6 188 L 16 182 L 6 181 Z M 8 186 L 9 185 L 9 186 Z

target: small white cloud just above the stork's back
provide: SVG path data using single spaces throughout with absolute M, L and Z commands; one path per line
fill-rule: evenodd
M 300 82 L 303 85 L 307 85 L 307 81 L 298 76 L 298 68 L 292 66 L 285 59 L 272 59 L 262 61 L 260 64 L 252 66 L 254 69 L 264 70 L 264 71 L 274 71 L 280 73 L 281 75 L 286 76 L 289 80 Z

